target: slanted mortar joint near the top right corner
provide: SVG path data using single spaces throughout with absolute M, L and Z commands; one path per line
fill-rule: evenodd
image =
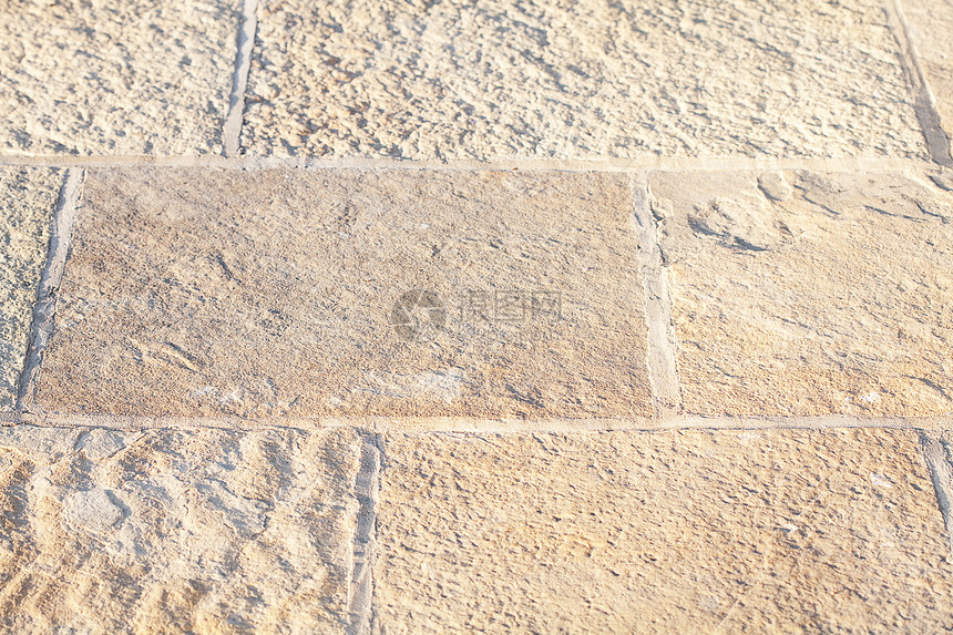
M 893 32 L 893 37 L 901 50 L 900 59 L 903 64 L 903 71 L 914 91 L 915 101 L 913 109 L 916 112 L 916 117 L 920 120 L 920 126 L 926 140 L 926 148 L 930 152 L 930 157 L 940 165 L 953 165 L 953 158 L 950 155 L 950 139 L 940 125 L 936 98 L 933 95 L 933 91 L 930 90 L 930 84 L 926 83 L 926 75 L 920 65 L 916 47 L 913 44 L 913 38 L 910 35 L 910 24 L 903 14 L 903 8 L 900 6 L 899 0 L 885 0 L 884 4 L 888 25 Z

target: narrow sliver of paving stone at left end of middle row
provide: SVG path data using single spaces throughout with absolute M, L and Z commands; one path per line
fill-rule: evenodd
M 12 408 L 62 172 L 0 167 L 0 410 Z

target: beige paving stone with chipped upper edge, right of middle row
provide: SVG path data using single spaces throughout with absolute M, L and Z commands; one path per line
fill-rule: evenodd
M 759 174 L 652 177 L 685 409 L 953 410 L 953 197 L 926 176 L 780 176 L 785 201 Z

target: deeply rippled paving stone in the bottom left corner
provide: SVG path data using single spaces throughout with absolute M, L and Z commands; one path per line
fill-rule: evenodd
M 352 431 L 0 429 L 8 633 L 344 633 Z

